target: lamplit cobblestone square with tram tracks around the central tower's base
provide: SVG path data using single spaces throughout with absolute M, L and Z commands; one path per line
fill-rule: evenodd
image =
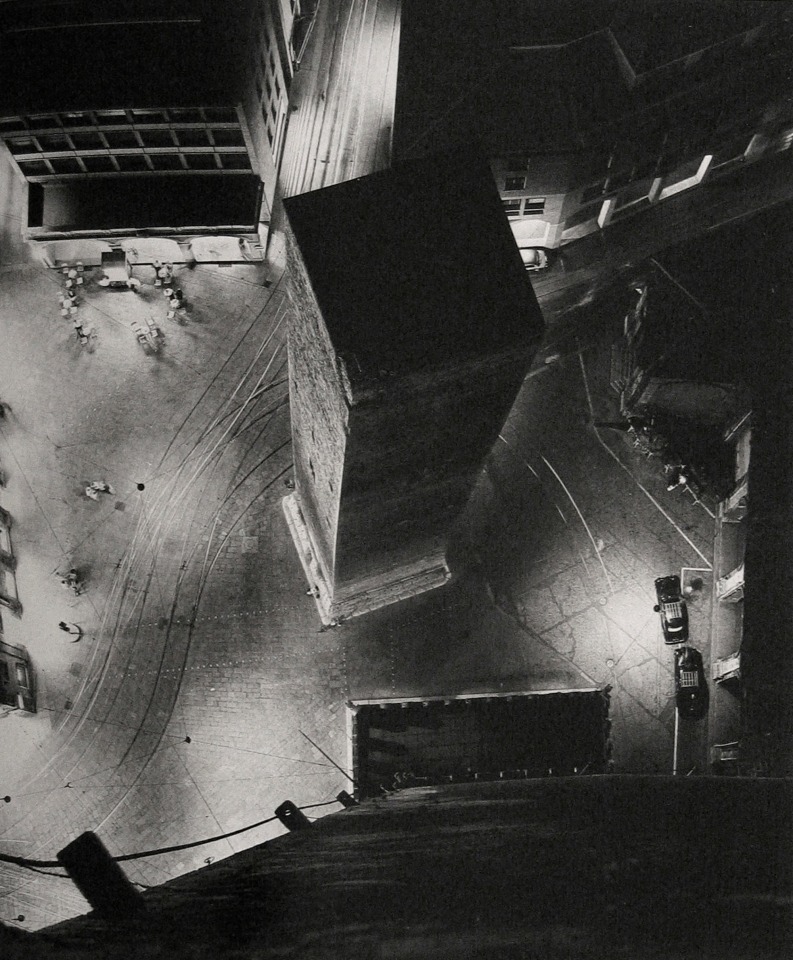
M 350 699 L 608 683 L 616 769 L 669 767 L 671 656 L 652 579 L 700 565 L 680 531 L 707 556 L 710 521 L 679 499 L 664 516 L 631 473 L 644 468 L 643 485 L 668 500 L 652 468 L 598 442 L 577 360 L 527 380 L 457 532 L 453 582 L 320 629 L 280 508 L 277 258 L 276 238 L 270 288 L 255 267 L 185 273 L 194 312 L 156 356 L 125 327 L 159 307 L 154 287 L 89 285 L 90 354 L 57 316 L 51 271 L 25 265 L 4 295 L 4 503 L 25 604 L 6 629 L 31 652 L 40 706 L 4 721 L 6 852 L 48 860 L 86 829 L 114 854 L 140 852 L 259 823 L 287 798 L 331 801 L 348 783 L 306 736 L 343 765 Z M 95 478 L 115 490 L 98 503 L 81 492 Z M 73 564 L 88 589 L 70 600 L 52 573 Z M 85 630 L 79 644 L 53 629 L 62 618 Z M 126 869 L 159 883 L 281 829 Z M 30 927 L 86 909 L 64 879 L 5 866 L 0 882 L 5 915 Z

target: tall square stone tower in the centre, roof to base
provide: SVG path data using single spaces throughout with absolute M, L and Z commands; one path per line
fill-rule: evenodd
M 433 157 L 284 201 L 293 537 L 325 622 L 450 577 L 446 538 L 542 316 L 487 163 Z

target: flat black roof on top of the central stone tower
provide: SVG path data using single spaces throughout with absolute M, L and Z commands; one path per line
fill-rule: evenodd
M 470 149 L 284 207 L 353 381 L 527 349 L 542 332 L 490 167 Z

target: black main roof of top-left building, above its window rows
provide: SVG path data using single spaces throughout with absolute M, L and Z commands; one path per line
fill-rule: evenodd
M 0 115 L 236 102 L 250 9 L 249 0 L 1 3 Z

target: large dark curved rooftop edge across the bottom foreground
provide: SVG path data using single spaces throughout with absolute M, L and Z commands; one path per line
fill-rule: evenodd
M 722 777 L 414 788 L 150 889 L 143 915 L 0 930 L 3 956 L 781 958 L 791 799 Z

